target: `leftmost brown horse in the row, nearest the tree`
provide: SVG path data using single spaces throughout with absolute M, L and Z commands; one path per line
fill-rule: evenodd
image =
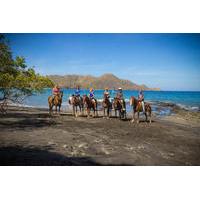
M 57 107 L 58 107 L 58 111 L 60 113 L 60 108 L 62 105 L 62 98 L 63 98 L 63 92 L 61 91 L 59 94 L 53 96 L 49 96 L 48 97 L 48 103 L 49 103 L 49 113 L 52 114 L 53 112 L 53 107 L 55 106 L 55 110 L 57 113 Z

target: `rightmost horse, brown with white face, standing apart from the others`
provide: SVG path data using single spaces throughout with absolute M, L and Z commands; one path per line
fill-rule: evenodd
M 139 123 L 139 116 L 140 116 L 140 112 L 143 112 L 142 109 L 142 103 L 140 101 L 138 101 L 134 96 L 132 96 L 130 98 L 130 106 L 133 107 L 133 116 L 132 116 L 132 121 L 131 122 L 135 122 L 135 113 L 138 113 L 138 119 L 137 119 L 137 123 Z M 145 107 L 145 117 L 146 117 L 146 122 L 147 122 L 147 113 L 149 115 L 149 122 L 151 124 L 151 105 L 149 103 L 144 103 L 144 107 Z

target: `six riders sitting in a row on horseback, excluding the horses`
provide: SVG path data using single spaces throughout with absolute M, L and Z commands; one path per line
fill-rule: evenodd
M 62 92 L 62 89 L 59 87 L 59 85 L 55 85 L 55 87 L 52 90 L 53 93 L 53 99 L 55 98 L 55 96 L 59 95 Z M 77 86 L 74 94 L 72 95 L 73 97 L 76 97 L 78 99 L 81 98 L 81 89 L 80 86 Z M 89 98 L 91 101 L 94 101 L 97 103 L 97 100 L 95 99 L 95 91 L 93 88 L 90 88 L 89 90 Z M 122 106 L 122 110 L 126 110 L 125 108 L 125 99 L 124 99 L 124 95 L 123 95 L 123 90 L 122 88 L 118 88 L 117 93 L 116 93 L 116 99 L 118 99 L 121 102 L 121 106 Z M 110 99 L 110 92 L 109 92 L 109 88 L 105 88 L 105 91 L 103 93 L 103 101 L 105 101 L 105 99 Z M 142 105 L 142 110 L 143 112 L 145 112 L 145 104 L 144 104 L 144 93 L 142 90 L 139 91 L 138 94 L 138 102 L 141 103 Z

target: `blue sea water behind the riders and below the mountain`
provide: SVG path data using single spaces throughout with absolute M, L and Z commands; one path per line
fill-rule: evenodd
M 70 95 L 74 93 L 73 89 L 64 89 L 64 97 L 63 97 L 63 110 L 70 109 L 68 105 L 68 98 Z M 101 101 L 103 98 L 104 90 L 96 90 L 95 96 Z M 116 95 L 115 91 L 111 92 L 111 98 Z M 124 90 L 124 97 L 127 102 L 127 111 L 130 111 L 129 99 L 131 96 L 138 96 L 138 91 L 130 91 Z M 82 90 L 81 95 L 88 94 L 88 90 Z M 37 94 L 28 97 L 24 104 L 27 106 L 34 107 L 48 107 L 47 99 L 48 96 L 51 95 L 51 89 L 45 89 L 42 94 Z M 188 110 L 199 111 L 200 110 L 200 92 L 174 92 L 174 91 L 145 91 L 145 100 L 151 102 L 153 106 L 154 113 L 158 113 L 160 115 L 168 115 L 171 112 L 171 108 L 167 106 L 158 106 L 160 102 L 164 103 L 173 103 L 180 107 L 183 107 Z

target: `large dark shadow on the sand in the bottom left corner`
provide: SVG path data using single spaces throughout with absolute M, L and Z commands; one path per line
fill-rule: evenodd
M 89 157 L 66 157 L 50 149 L 27 147 L 1 147 L 1 166 L 97 166 Z

